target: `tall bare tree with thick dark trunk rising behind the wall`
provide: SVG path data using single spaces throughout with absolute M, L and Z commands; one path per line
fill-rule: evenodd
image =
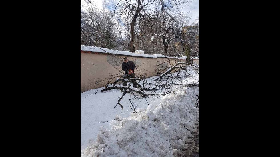
M 159 18 L 159 10 L 162 14 L 177 12 L 181 14 L 179 6 L 188 3 L 190 0 L 120 0 L 112 8 L 113 13 L 118 13 L 118 21 L 122 20 L 130 24 L 131 40 L 130 52 L 135 52 L 135 24 L 137 19 L 144 19 L 153 27 L 152 19 Z

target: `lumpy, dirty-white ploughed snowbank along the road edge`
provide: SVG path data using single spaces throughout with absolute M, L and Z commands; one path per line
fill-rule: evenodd
M 196 95 L 198 87 L 180 86 L 159 104 L 137 109 L 128 118 L 117 115 L 111 130 L 100 127 L 97 142 L 81 156 L 180 156 L 199 126 Z

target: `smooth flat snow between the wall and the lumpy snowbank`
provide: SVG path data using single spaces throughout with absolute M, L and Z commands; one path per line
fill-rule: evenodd
M 151 82 L 153 79 L 154 78 L 148 78 L 147 80 Z M 127 79 L 125 80 L 127 81 Z M 143 84 L 143 81 L 141 83 Z M 129 88 L 131 89 L 134 88 L 132 83 L 128 83 L 127 85 L 130 86 Z M 109 87 L 111 87 L 111 85 L 109 85 Z M 120 87 L 123 87 L 123 85 L 121 84 Z M 81 93 L 81 150 L 87 148 L 90 143 L 96 142 L 99 126 L 105 129 L 111 129 L 109 121 L 116 119 L 116 115 L 128 118 L 132 112 L 129 102 L 129 99 L 131 99 L 130 95 L 127 94 L 123 97 L 121 104 L 124 110 L 122 110 L 119 106 L 116 108 L 114 107 L 123 93 L 118 89 L 101 93 L 103 89 L 105 89 L 105 87 L 91 89 Z M 134 88 L 133 90 L 138 89 Z M 152 101 L 160 103 L 159 99 L 147 99 L 147 101 L 149 104 L 151 104 Z M 134 101 L 134 103 L 136 104 L 135 107 L 137 106 L 138 109 L 147 108 L 148 106 L 147 103 L 140 101 Z

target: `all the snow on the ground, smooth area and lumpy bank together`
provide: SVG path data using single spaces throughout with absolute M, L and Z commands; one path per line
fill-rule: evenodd
M 182 84 L 199 81 L 190 68 L 192 78 Z M 149 78 L 152 81 L 157 77 Z M 180 85 L 174 94 L 159 99 L 133 101 L 137 114 L 130 109 L 130 95 L 104 89 L 81 93 L 81 157 L 95 156 L 177 156 L 186 147 L 199 126 L 199 108 L 195 107 L 198 87 Z M 161 92 L 161 91 L 158 91 Z

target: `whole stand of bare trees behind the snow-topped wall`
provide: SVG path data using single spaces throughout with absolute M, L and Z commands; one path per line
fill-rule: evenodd
M 189 0 L 109 0 L 111 12 L 88 2 L 81 9 L 81 45 L 178 56 L 190 42 L 189 57 L 199 56 L 198 19 L 189 26 L 179 10 Z

